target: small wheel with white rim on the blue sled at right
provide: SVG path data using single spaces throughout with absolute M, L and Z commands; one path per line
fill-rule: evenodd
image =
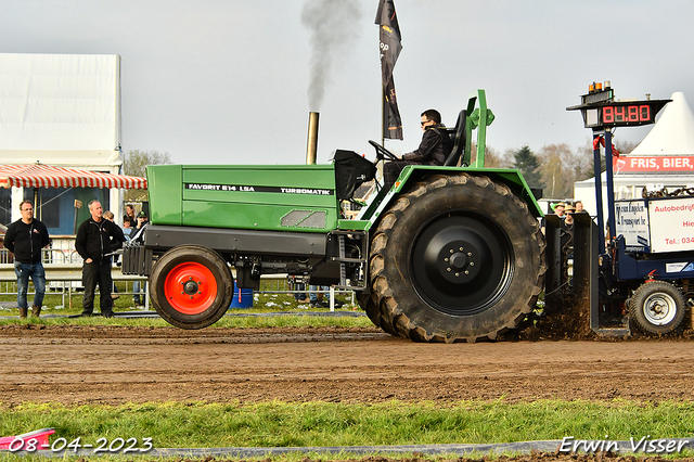
M 633 292 L 629 318 L 645 333 L 667 334 L 682 323 L 685 309 L 682 291 L 665 281 L 648 281 Z

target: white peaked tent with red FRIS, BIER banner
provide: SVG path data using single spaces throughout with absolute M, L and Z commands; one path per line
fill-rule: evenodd
M 694 113 L 682 92 L 672 93 L 653 129 L 629 154 L 615 159 L 615 198 L 638 198 L 650 190 L 694 187 Z M 603 209 L 607 207 L 606 174 L 603 172 Z M 574 197 L 594 214 L 595 180 L 577 181 Z

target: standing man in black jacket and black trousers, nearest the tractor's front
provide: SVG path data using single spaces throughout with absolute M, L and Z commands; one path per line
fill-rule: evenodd
M 82 257 L 82 315 L 91 316 L 94 311 L 94 291 L 99 284 L 99 306 L 104 318 L 113 318 L 113 299 L 111 298 L 111 256 L 123 246 L 125 236 L 113 221 L 103 218 L 103 208 L 99 201 L 89 203 L 91 218 L 77 229 L 75 249 Z

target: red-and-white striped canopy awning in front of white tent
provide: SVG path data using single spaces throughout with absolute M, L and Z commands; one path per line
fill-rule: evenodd
M 118 188 L 146 190 L 147 180 L 43 164 L 0 165 L 0 188 Z

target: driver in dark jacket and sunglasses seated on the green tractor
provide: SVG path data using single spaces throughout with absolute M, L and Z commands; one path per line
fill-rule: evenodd
M 385 188 L 390 189 L 406 165 L 444 165 L 453 149 L 446 126 L 441 124 L 441 115 L 436 110 L 422 113 L 422 142 L 411 153 L 402 154 L 398 161 L 390 161 L 383 167 Z

